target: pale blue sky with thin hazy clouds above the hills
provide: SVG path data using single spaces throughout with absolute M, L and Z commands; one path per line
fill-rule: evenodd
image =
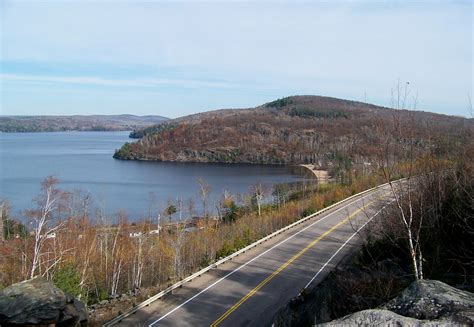
M 469 116 L 472 1 L 0 0 L 0 114 L 179 117 L 290 95 Z M 413 101 L 412 101 L 413 100 Z

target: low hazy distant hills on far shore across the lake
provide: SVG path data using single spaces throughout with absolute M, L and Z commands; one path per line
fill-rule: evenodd
M 161 116 L 0 116 L 0 132 L 127 131 L 162 123 Z

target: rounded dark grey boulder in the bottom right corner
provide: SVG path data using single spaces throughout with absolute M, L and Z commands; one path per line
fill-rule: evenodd
M 436 280 L 413 282 L 384 309 L 416 319 L 450 318 L 474 324 L 474 294 Z

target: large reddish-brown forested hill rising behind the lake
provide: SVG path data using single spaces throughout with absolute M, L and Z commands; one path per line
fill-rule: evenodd
M 253 109 L 227 109 L 179 119 L 133 135 L 117 150 L 129 160 L 316 163 L 370 162 L 387 136 L 399 144 L 441 151 L 468 142 L 473 120 L 422 111 L 395 110 L 320 96 L 293 96 Z

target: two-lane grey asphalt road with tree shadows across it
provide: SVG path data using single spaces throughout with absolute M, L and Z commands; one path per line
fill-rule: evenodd
M 378 189 L 298 225 L 166 295 L 119 326 L 270 326 L 308 284 L 319 283 L 360 244 L 362 228 L 389 201 Z

